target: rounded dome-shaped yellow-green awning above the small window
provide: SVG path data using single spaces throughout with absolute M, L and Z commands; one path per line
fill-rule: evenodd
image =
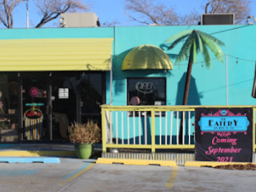
M 158 46 L 142 45 L 130 50 L 122 70 L 172 70 L 170 57 Z

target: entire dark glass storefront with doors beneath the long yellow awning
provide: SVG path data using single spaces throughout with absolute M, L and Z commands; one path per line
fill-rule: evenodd
M 0 73 L 1 142 L 67 141 L 71 122 L 100 125 L 105 74 Z

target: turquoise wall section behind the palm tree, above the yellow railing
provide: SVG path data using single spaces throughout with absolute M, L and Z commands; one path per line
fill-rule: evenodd
M 190 85 L 190 105 L 254 105 L 256 99 L 251 97 L 254 80 L 254 62 L 256 60 L 256 25 L 254 26 L 137 26 L 114 28 L 114 72 L 113 72 L 113 105 L 126 105 L 126 78 L 129 77 L 166 77 L 166 104 L 181 105 L 184 90 L 184 75 L 187 61 L 174 69 L 163 70 L 132 70 L 122 71 L 122 61 L 129 50 L 135 46 L 151 44 L 166 50 L 163 44 L 167 38 L 182 30 L 202 30 L 220 39 L 226 44 L 222 47 L 224 62 L 212 54 L 211 69 L 206 68 L 202 56 L 198 57 L 192 70 Z M 180 43 L 173 50 L 166 50 L 175 63 L 175 57 L 181 48 Z M 238 58 L 238 59 L 237 59 Z M 238 61 L 238 62 L 237 62 Z M 226 65 L 228 71 L 226 73 Z M 226 76 L 227 74 L 227 76 Z M 228 95 L 226 95 L 226 78 Z M 108 84 L 110 77 L 106 77 Z M 110 103 L 109 84 L 106 92 Z M 228 96 L 228 98 L 227 98 Z

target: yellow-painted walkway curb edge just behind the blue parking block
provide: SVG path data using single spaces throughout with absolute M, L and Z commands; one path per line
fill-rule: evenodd
M 62 150 L 5 150 L 0 152 L 0 157 L 77 157 L 75 151 Z

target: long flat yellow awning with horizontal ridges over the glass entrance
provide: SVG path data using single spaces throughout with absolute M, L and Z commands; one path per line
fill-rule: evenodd
M 113 38 L 0 40 L 0 71 L 110 70 Z

